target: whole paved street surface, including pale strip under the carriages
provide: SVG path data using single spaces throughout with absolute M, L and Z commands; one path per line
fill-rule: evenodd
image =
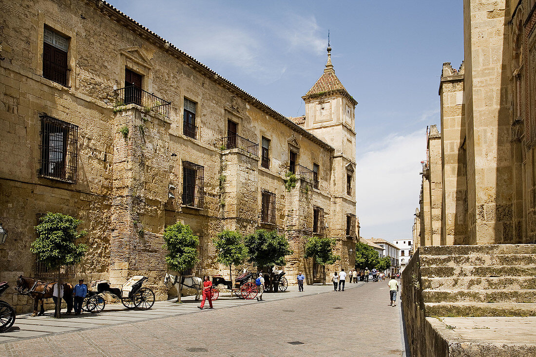
M 197 303 L 167 301 L 148 311 L 114 306 L 61 321 L 21 317 L 20 331 L 0 334 L 0 355 L 406 356 L 400 307 L 389 306 L 386 283 L 330 289 L 289 287 L 265 294 L 263 302 L 220 298 L 216 309 L 203 311 Z M 289 344 L 294 341 L 302 344 Z

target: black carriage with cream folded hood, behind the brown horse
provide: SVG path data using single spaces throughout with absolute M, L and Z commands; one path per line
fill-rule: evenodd
M 110 287 L 108 281 L 102 280 L 96 282 L 96 291 L 87 291 L 84 299 L 84 310 L 90 313 L 100 313 L 106 306 L 104 294 L 109 294 L 115 299 L 120 299 L 123 306 L 127 309 L 150 309 L 154 304 L 154 292 L 143 283 L 147 280 L 144 276 L 133 276 L 125 282 L 121 289 Z

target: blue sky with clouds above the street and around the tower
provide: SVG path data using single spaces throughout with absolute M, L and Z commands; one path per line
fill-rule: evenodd
M 363 237 L 411 237 L 443 62 L 463 59 L 462 0 L 111 4 L 288 116 L 332 62 L 355 110 Z

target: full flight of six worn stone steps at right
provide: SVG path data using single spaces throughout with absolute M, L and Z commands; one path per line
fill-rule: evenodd
M 536 244 L 419 250 L 426 316 L 536 316 Z

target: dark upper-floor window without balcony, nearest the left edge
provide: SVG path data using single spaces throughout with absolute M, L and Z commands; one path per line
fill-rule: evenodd
M 43 77 L 67 85 L 67 50 L 69 39 L 44 28 Z

